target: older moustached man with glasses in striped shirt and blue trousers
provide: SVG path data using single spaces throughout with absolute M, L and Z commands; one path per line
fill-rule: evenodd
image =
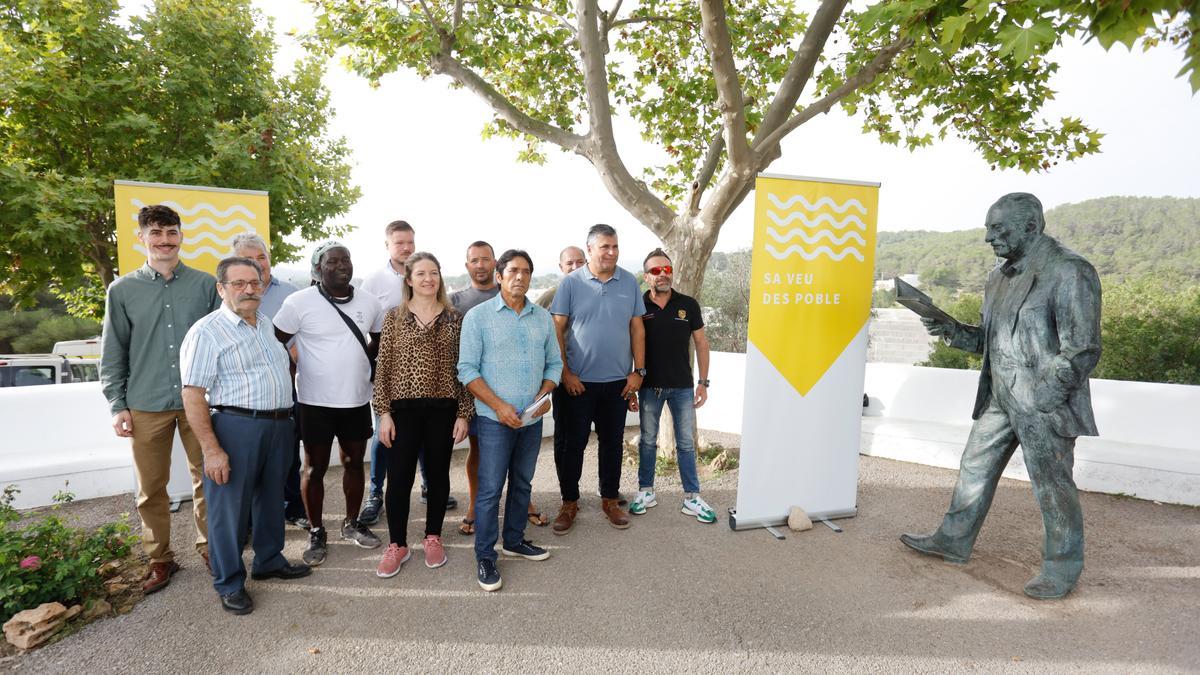
M 241 550 L 253 509 L 252 579 L 312 571 L 283 557 L 283 474 L 290 458 L 288 353 L 259 311 L 263 279 L 251 258 L 217 265 L 220 310 L 196 322 L 180 350 L 184 410 L 204 452 L 209 556 L 221 607 L 250 614 Z M 208 396 L 205 399 L 205 395 Z

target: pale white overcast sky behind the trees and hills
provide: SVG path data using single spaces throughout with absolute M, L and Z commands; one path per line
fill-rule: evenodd
M 310 6 L 256 4 L 275 19 L 278 64 L 290 64 L 300 50 L 286 34 L 311 25 Z M 1062 48 L 1056 58 L 1062 67 L 1052 86 L 1060 94 L 1048 117 L 1081 117 L 1104 132 L 1097 156 L 1043 174 L 992 172 L 965 143 L 908 153 L 864 136 L 859 121 L 835 110 L 792 133 L 769 172 L 878 181 L 880 228 L 890 231 L 980 227 L 988 205 L 1012 191 L 1033 192 L 1046 208 L 1110 195 L 1200 197 L 1200 97 L 1175 78 L 1181 52 L 1104 52 L 1092 43 Z M 527 249 L 536 271 L 550 271 L 559 249 L 582 245 L 595 222 L 617 227 L 626 267 L 658 245 L 582 157 L 550 149 L 547 165 L 522 165 L 514 144 L 482 141 L 490 109 L 448 83 L 401 72 L 371 89 L 338 64 L 329 68 L 331 132 L 349 141 L 354 181 L 362 189 L 337 219 L 356 226 L 346 238 L 356 274 L 383 264 L 383 227 L 396 219 L 413 223 L 418 249 L 442 258 L 448 274 L 461 269 L 457 261 L 475 239 L 490 240 L 497 252 Z M 654 155 L 630 125 L 622 131 L 622 156 L 636 175 Z M 726 222 L 718 250 L 750 245 L 751 204 L 746 199 Z

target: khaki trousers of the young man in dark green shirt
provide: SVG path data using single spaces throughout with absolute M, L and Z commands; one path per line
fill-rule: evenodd
M 192 474 L 192 515 L 196 518 L 196 550 L 208 552 L 208 508 L 204 503 L 204 454 L 200 442 L 192 434 L 181 410 L 142 412 L 131 410 L 133 417 L 133 472 L 138 477 L 138 516 L 142 519 L 142 548 L 150 562 L 170 562 L 170 449 L 175 428 L 187 453 L 187 468 Z

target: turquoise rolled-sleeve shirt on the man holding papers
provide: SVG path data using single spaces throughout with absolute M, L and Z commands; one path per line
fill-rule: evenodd
M 526 300 L 521 313 L 496 295 L 467 312 L 458 342 L 458 381 L 480 377 L 503 401 L 520 413 L 541 389 L 544 380 L 558 384 L 563 357 L 550 312 Z M 475 414 L 499 422 L 484 401 L 475 399 Z M 534 424 L 529 420 L 526 425 Z

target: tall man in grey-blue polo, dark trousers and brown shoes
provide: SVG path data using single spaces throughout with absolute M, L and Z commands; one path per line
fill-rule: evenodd
M 629 514 L 620 508 L 618 495 L 622 436 L 629 399 L 636 396 L 646 377 L 646 306 L 637 277 L 617 267 L 618 253 L 617 231 L 608 225 L 592 226 L 588 264 L 563 279 L 550 305 L 563 350 L 568 394 L 559 413 L 568 419 L 566 443 L 554 452 L 563 496 L 554 518 L 556 534 L 575 526 L 583 448 L 593 423 L 600 446 L 601 508 L 610 525 L 629 527 Z

